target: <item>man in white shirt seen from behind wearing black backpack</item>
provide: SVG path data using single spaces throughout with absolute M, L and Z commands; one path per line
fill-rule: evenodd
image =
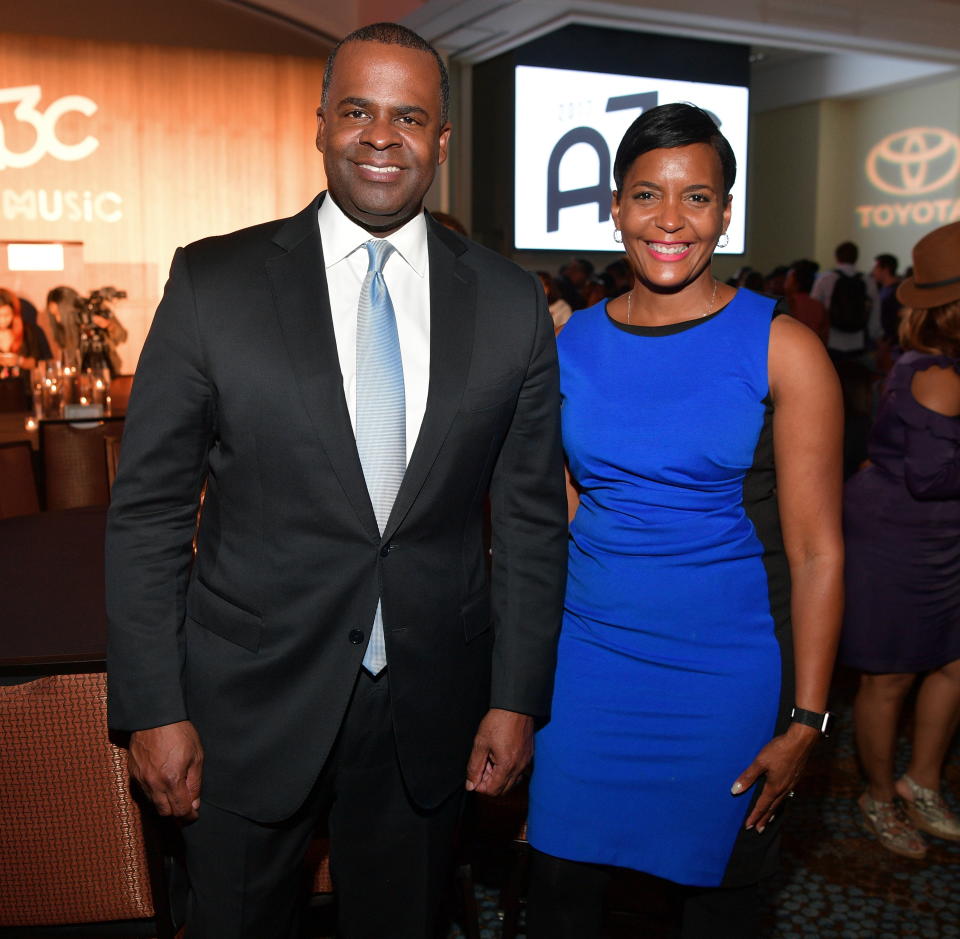
M 830 317 L 827 348 L 834 360 L 858 358 L 869 340 L 880 334 L 880 303 L 873 278 L 857 270 L 859 251 L 852 241 L 837 245 L 836 267 L 825 271 L 810 296 L 819 300 Z

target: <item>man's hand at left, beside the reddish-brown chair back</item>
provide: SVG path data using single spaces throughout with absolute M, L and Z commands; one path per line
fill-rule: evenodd
M 197 818 L 203 747 L 189 721 L 134 731 L 130 772 L 161 815 L 185 822 Z

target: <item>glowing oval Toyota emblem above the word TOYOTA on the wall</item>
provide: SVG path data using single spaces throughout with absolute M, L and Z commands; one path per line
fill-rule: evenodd
M 942 127 L 911 127 L 884 137 L 867 156 L 867 177 L 895 196 L 941 189 L 960 172 L 960 138 Z

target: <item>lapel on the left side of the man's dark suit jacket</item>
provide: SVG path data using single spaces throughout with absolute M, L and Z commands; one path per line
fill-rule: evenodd
M 317 225 L 321 198 L 293 216 L 274 235 L 274 242 L 285 250 L 267 261 L 267 276 L 273 287 L 280 330 L 304 407 L 347 500 L 368 534 L 379 538 L 343 395 L 343 377 Z

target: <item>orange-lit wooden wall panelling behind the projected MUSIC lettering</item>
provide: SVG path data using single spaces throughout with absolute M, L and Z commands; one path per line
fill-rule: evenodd
M 0 167 L 3 237 L 84 244 L 87 291 L 126 289 L 118 312 L 139 355 L 178 245 L 301 209 L 324 186 L 314 145 L 323 60 L 0 34 L 0 99 L 39 85 L 27 120 L 0 100 L 0 162 L 36 140 L 68 95 L 96 103 L 66 112 L 56 138 L 99 141 L 90 155 L 44 152 Z M 22 96 L 21 96 L 22 97 Z M 23 102 L 21 101 L 21 107 Z M 60 282 L 59 275 L 51 275 Z M 55 286 L 53 282 L 49 286 Z M 31 297 L 40 303 L 42 297 Z

